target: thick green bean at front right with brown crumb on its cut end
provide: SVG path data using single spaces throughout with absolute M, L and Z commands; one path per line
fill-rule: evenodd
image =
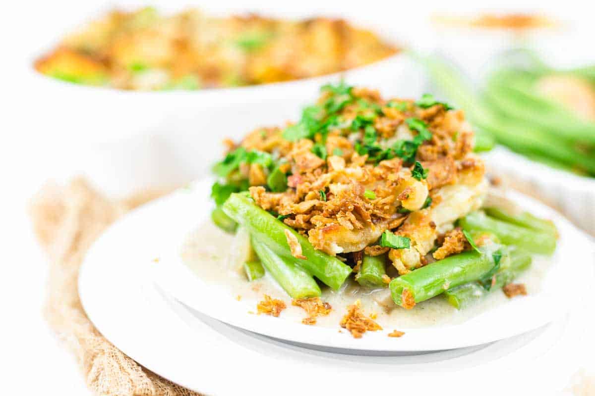
M 390 281 L 390 295 L 397 305 L 413 308 L 452 287 L 478 280 L 494 268 L 489 252 L 467 251 L 449 256 Z

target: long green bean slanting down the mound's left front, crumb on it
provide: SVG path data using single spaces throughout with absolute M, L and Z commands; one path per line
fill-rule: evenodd
M 231 194 L 223 204 L 223 210 L 229 217 L 245 226 L 256 240 L 267 245 L 275 254 L 295 260 L 296 264 L 334 290 L 339 290 L 339 287 L 352 272 L 349 265 L 344 264 L 336 257 L 314 249 L 306 237 L 298 234 L 267 211 L 262 210 L 246 195 Z M 302 255 L 306 259 L 293 257 L 285 235 L 286 230 L 297 238 L 302 247 Z

